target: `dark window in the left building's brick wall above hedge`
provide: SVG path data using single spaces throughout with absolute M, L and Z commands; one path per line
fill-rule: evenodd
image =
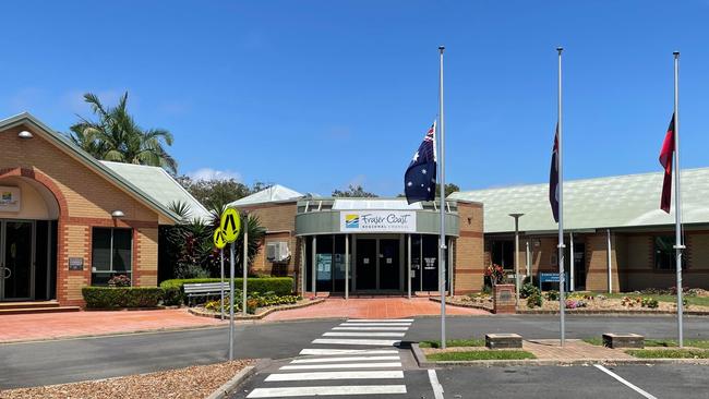
M 106 286 L 117 275 L 132 281 L 133 230 L 97 227 L 92 235 L 92 285 Z

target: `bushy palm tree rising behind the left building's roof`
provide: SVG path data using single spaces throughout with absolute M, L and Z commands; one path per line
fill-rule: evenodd
M 84 95 L 98 121 L 79 117 L 69 138 L 97 159 L 163 167 L 177 173 L 177 160 L 165 145 L 172 145 L 172 134 L 165 129 L 143 130 L 128 113 L 128 92 L 116 107 L 105 107 L 92 93 Z

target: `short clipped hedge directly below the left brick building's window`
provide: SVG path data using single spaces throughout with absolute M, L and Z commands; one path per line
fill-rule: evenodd
M 155 307 L 164 290 L 157 287 L 84 287 L 81 293 L 88 309 Z

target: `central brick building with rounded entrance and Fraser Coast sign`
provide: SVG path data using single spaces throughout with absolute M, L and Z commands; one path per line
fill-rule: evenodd
M 434 203 L 319 197 L 275 185 L 231 206 L 259 216 L 267 230 L 253 271 L 295 276 L 299 292 L 416 294 L 438 289 L 440 214 Z M 472 292 L 482 285 L 482 206 L 468 201 L 446 206 L 446 290 L 454 281 L 455 293 Z

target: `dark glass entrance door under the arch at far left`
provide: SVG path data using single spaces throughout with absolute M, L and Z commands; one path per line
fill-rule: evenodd
M 0 300 L 32 299 L 32 221 L 0 221 Z

